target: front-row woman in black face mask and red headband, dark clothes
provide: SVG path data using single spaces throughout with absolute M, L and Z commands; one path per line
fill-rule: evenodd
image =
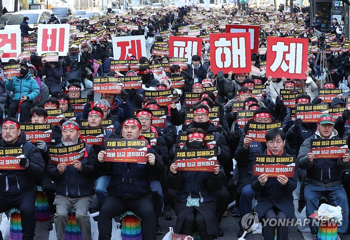
M 205 132 L 201 128 L 191 128 L 183 149 L 209 149 Z M 177 190 L 174 210 L 176 213 L 175 233 L 192 235 L 197 230 L 201 239 L 217 237 L 218 222 L 215 216 L 214 191 L 222 188 L 223 174 L 219 165 L 213 172 L 177 171 L 177 164 L 170 165 L 168 186 Z

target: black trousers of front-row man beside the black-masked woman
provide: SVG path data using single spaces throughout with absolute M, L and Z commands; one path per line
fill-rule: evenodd
M 126 211 L 132 211 L 141 218 L 142 239 L 156 239 L 157 221 L 153 210 L 153 197 L 151 194 L 147 194 L 137 200 L 126 200 L 113 196 L 107 197 L 98 216 L 98 240 L 111 239 L 112 218 Z

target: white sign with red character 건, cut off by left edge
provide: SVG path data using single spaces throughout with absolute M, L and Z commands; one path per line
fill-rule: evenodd
M 0 50 L 3 51 L 2 62 L 16 59 L 21 54 L 21 30 L 0 30 Z

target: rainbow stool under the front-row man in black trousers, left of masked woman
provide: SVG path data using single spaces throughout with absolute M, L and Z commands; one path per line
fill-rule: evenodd
M 141 220 L 137 215 L 127 211 L 120 219 L 122 240 L 142 240 Z

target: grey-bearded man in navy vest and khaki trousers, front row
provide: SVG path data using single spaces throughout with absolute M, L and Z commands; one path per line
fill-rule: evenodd
M 79 139 L 79 125 L 66 121 L 62 125 L 62 143 L 59 146 L 75 145 Z M 77 224 L 82 231 L 84 240 L 91 240 L 91 224 L 87 215 L 93 196 L 93 164 L 96 155 L 90 145 L 85 145 L 85 155 L 82 161 L 74 160 L 71 164 L 49 163 L 47 174 L 56 180 L 56 213 L 54 217 L 56 236 L 64 240 L 68 212 L 75 210 Z

